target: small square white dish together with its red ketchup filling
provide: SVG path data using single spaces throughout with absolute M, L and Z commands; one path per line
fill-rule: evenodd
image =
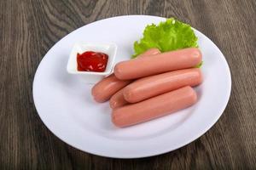
M 87 53 L 85 54 L 85 52 Z M 67 72 L 69 74 L 73 74 L 76 77 L 83 78 L 84 82 L 87 82 L 87 83 L 93 84 L 93 83 L 99 82 L 100 80 L 102 80 L 103 77 L 106 77 L 112 73 L 116 52 L 117 52 L 117 45 L 115 43 L 96 43 L 96 42 L 75 43 L 67 62 Z M 102 70 L 102 67 L 97 67 L 98 70 L 94 71 L 92 65 L 96 65 L 96 62 L 101 61 L 102 59 L 99 59 L 101 57 L 105 59 L 106 57 L 105 54 L 107 54 L 108 61 L 104 66 L 104 69 L 103 69 L 104 71 Z M 83 62 L 85 61 L 84 64 L 89 65 L 88 69 L 81 70 L 82 67 L 79 65 L 79 60 L 78 60 L 79 55 L 80 56 L 83 55 L 82 61 Z M 89 59 L 89 60 L 86 60 L 86 59 Z M 90 63 L 92 65 L 90 65 Z M 99 63 L 98 65 L 102 65 L 102 63 Z

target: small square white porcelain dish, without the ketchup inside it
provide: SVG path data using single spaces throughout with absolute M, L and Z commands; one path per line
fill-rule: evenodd
M 85 51 L 95 51 L 108 54 L 108 64 L 104 72 L 78 71 L 77 54 Z M 117 52 L 117 45 L 114 43 L 78 42 L 75 43 L 67 62 L 67 72 L 81 77 L 85 82 L 96 83 L 108 76 L 113 71 L 113 63 Z

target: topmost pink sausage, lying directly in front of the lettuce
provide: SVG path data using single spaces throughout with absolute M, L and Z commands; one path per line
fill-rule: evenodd
M 122 61 L 115 65 L 113 71 L 120 80 L 129 80 L 191 68 L 200 62 L 201 51 L 199 48 L 184 48 L 150 57 Z

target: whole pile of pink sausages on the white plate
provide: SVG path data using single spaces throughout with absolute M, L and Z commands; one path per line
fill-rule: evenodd
M 91 94 L 97 102 L 113 109 L 112 122 L 127 127 L 195 104 L 195 87 L 202 82 L 196 65 L 201 63 L 199 48 L 160 53 L 151 48 L 137 59 L 115 65 L 113 74 L 97 82 Z

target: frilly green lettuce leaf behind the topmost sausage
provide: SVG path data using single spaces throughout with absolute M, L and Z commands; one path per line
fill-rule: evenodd
M 180 48 L 198 47 L 197 37 L 191 26 L 174 18 L 146 26 L 143 38 L 134 42 L 132 58 L 143 54 L 149 48 L 159 48 L 161 52 L 172 51 Z

